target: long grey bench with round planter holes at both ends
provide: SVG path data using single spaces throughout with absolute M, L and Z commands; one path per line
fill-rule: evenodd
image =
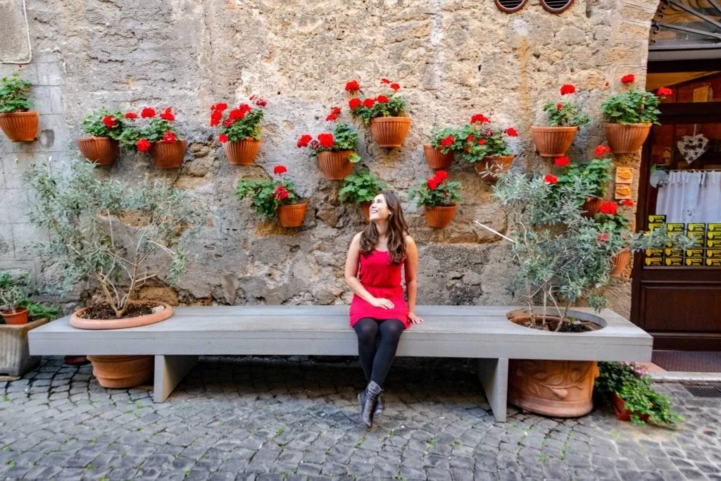
M 513 325 L 505 317 L 513 309 L 418 306 L 425 322 L 404 332 L 398 356 L 479 359 L 479 379 L 498 421 L 506 417 L 508 359 L 651 359 L 652 337 L 608 309 L 597 314 L 606 327 L 583 334 Z M 123 330 L 79 330 L 63 317 L 30 331 L 30 353 L 153 355 L 154 400 L 164 402 L 200 355 L 356 356 L 358 345 L 348 306 L 201 306 L 177 307 L 166 321 Z

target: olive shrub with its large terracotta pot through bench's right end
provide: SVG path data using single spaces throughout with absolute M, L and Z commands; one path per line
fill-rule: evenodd
M 578 199 L 591 190 L 582 178 L 557 185 L 554 175 L 499 177 L 493 195 L 508 212 L 510 257 L 518 266 L 510 292 L 526 304 L 508 313 L 518 325 L 564 335 L 598 330 L 604 325 L 601 317 L 572 311 L 571 306 L 580 299 L 597 311 L 606 306 L 603 288 L 612 282 L 615 255 L 663 247 L 666 242 L 678 247 L 693 243 L 680 234 L 667 237 L 664 229 L 634 234 L 582 216 Z M 585 415 L 593 408 L 597 375 L 592 360 L 515 360 L 510 365 L 508 400 L 544 415 Z

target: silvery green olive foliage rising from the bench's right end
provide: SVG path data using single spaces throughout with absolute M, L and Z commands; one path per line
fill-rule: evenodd
M 597 310 L 608 303 L 603 288 L 611 283 L 611 259 L 629 249 L 686 248 L 693 241 L 667 237 L 665 229 L 633 233 L 581 216 L 578 199 L 591 197 L 593 186 L 581 179 L 550 185 L 542 175 L 515 172 L 499 175 L 493 195 L 508 211 L 509 227 L 516 241 L 511 255 L 518 273 L 510 292 L 530 308 L 536 304 L 557 309 L 565 317 L 580 298 Z

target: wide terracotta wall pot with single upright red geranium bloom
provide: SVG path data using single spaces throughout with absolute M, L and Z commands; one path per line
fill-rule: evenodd
M 572 84 L 564 84 L 561 87 L 561 95 L 575 94 L 576 87 Z M 575 102 L 551 102 L 544 103 L 544 112 L 548 115 L 548 127 L 531 127 L 531 135 L 534 137 L 536 149 L 543 157 L 564 156 L 570 148 L 573 138 L 578 132 L 580 125 L 586 125 L 590 119 L 588 115 L 580 111 Z

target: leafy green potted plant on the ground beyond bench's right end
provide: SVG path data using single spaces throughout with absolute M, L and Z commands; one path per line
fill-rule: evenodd
M 635 363 L 603 361 L 598 363 L 596 395 L 610 402 L 616 418 L 635 425 L 646 423 L 675 428 L 684 420 L 673 410 L 671 397 L 656 392 L 653 379 Z

